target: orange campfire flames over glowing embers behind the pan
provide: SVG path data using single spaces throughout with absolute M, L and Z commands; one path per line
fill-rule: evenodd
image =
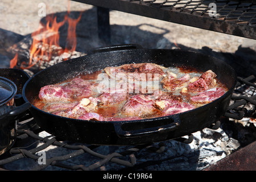
M 69 9 L 69 8 L 68 8 Z M 76 50 L 76 26 L 81 19 L 82 13 L 77 19 L 69 17 L 70 11 L 64 16 L 64 19 L 57 22 L 57 17 L 47 16 L 46 24 L 42 24 L 37 31 L 31 34 L 32 44 L 29 49 L 29 61 L 22 61 L 20 63 L 20 69 L 30 69 L 34 65 L 42 64 L 43 62 L 49 62 L 54 57 L 62 56 L 62 61 L 67 60 L 72 52 Z M 68 32 L 65 48 L 59 44 L 59 28 L 65 23 L 68 23 Z M 67 55 L 65 55 L 67 54 Z M 14 58 L 10 60 L 10 68 L 18 67 L 18 53 L 15 54 Z

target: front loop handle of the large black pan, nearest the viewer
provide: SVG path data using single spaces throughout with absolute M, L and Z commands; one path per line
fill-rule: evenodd
M 138 130 L 130 130 L 130 131 L 126 131 L 122 129 L 122 126 L 124 125 L 124 123 L 127 123 L 127 122 L 118 121 L 114 123 L 115 133 L 120 138 L 145 137 L 147 135 L 151 135 L 154 133 L 166 133 L 168 131 L 177 129 L 177 127 L 180 126 L 180 117 L 177 114 L 171 115 L 168 118 L 164 118 L 164 119 L 172 119 L 173 122 L 168 123 L 167 125 L 138 129 Z M 138 123 L 141 123 L 141 122 L 144 122 L 144 121 L 138 121 Z M 146 121 L 146 122 L 154 122 L 154 120 Z M 133 124 L 136 125 L 136 122 L 134 122 Z

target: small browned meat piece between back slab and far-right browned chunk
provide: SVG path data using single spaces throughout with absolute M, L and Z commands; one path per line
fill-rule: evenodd
M 161 84 L 164 89 L 174 91 L 176 89 L 181 89 L 188 85 L 190 79 L 189 74 L 185 74 L 183 77 L 177 78 L 173 74 L 168 73 L 166 77 L 163 78 Z

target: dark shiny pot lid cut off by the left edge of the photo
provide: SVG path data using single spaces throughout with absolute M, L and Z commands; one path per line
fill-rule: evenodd
M 0 106 L 10 101 L 16 94 L 17 87 L 13 81 L 0 77 Z

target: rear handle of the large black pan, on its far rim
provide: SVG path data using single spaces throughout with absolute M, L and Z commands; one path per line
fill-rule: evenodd
M 92 55 L 98 52 L 108 52 L 108 51 L 118 51 L 118 50 L 126 50 L 126 49 L 143 49 L 143 47 L 139 44 L 122 44 L 117 46 L 109 46 L 109 47 L 100 47 L 89 50 L 88 55 Z

